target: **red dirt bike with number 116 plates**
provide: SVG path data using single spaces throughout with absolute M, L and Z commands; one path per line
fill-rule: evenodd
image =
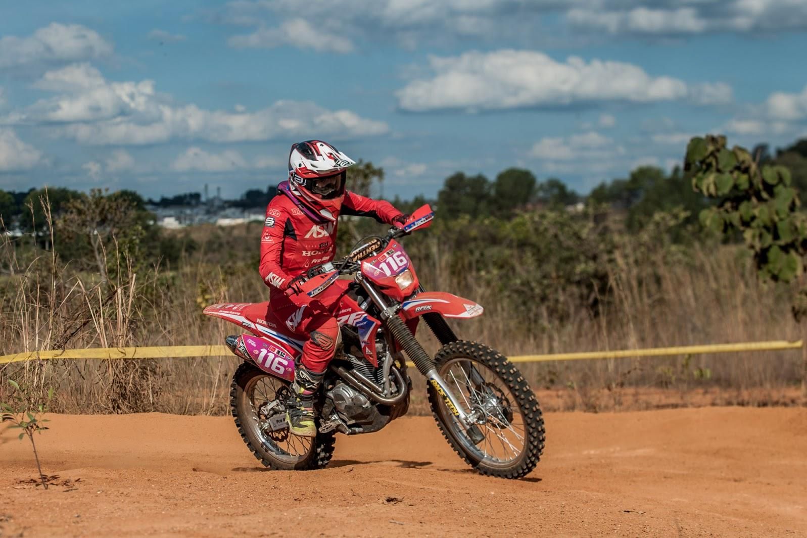
M 271 469 L 320 469 L 331 460 L 337 432 L 377 432 L 408 411 L 412 380 L 408 363 L 426 378 L 429 404 L 445 439 L 480 473 L 521 478 L 537 465 L 544 423 L 535 394 L 500 352 L 459 340 L 445 318 L 469 319 L 483 307 L 465 298 L 424 291 L 412 261 L 397 241 L 433 220 L 420 207 L 386 236 L 370 236 L 349 256 L 312 266 L 298 277 L 300 293 L 328 294 L 333 286 L 341 339 L 316 394 L 316 437 L 295 436 L 286 423 L 289 386 L 303 342 L 272 321 L 269 303 L 216 304 L 206 315 L 226 319 L 250 334 L 226 344 L 244 359 L 232 378 L 230 403 L 236 426 L 259 461 Z M 441 348 L 430 357 L 416 340 L 420 318 Z

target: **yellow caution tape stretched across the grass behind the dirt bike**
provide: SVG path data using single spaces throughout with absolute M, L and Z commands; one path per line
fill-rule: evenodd
M 578 353 L 549 353 L 546 355 L 521 355 L 509 357 L 510 362 L 580 361 L 585 359 L 619 359 L 625 357 L 664 357 L 670 355 L 701 355 L 707 353 L 732 353 L 753 351 L 782 351 L 799 349 L 801 340 L 771 340 L 767 342 L 742 342 L 739 344 L 687 345 L 674 348 L 621 349 L 617 351 L 588 351 Z M 3 355 L 0 365 L 11 362 L 46 359 L 160 359 L 167 357 L 224 357 L 230 350 L 224 345 L 178 345 L 153 348 L 92 348 L 34 351 Z M 412 363 L 407 363 L 412 366 Z

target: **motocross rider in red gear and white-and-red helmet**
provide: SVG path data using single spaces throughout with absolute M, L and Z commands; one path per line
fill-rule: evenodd
M 295 277 L 312 265 L 332 261 L 339 215 L 369 216 L 398 227 L 407 219 L 390 202 L 345 191 L 345 169 L 354 164 L 320 140 L 293 144 L 289 179 L 266 206 L 259 270 L 270 288 L 270 310 L 305 341 L 286 413 L 291 432 L 298 436 L 316 436 L 314 395 L 336 351 L 339 324 L 337 302 L 328 304 L 301 293 Z M 332 286 L 346 288 L 348 283 L 337 280 Z

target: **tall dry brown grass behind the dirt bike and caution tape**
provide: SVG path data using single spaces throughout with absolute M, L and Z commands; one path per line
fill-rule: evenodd
M 48 216 L 48 219 L 50 217 Z M 202 239 L 211 231 L 194 231 Z M 220 232 L 215 232 L 220 233 Z M 228 231 L 254 238 L 249 227 Z M 17 241 L 24 241 L 25 238 Z M 410 239 L 415 240 L 415 239 Z M 254 241 L 252 241 L 254 243 Z M 52 242 L 51 242 L 52 244 Z M 126 252 L 105 252 L 115 269 L 108 282 L 73 270 L 55 252 L 20 256 L 8 236 L 0 252 L 0 354 L 44 349 L 220 344 L 238 328 L 201 314 L 214 302 L 267 297 L 252 261 L 211 265 L 185 256 L 177 267 L 136 272 Z M 473 298 L 479 319 L 453 323 L 458 334 L 508 355 L 644 348 L 745 340 L 796 340 L 786 290 L 760 284 L 742 250 L 694 248 L 669 258 L 617 257 L 609 266 L 611 300 L 599 311 L 572 310 L 558 323 L 535 304 L 531 311 L 503 302 L 473 273 L 449 270 L 449 252 L 432 240 L 416 269 L 424 286 Z M 569 299 L 571 302 L 571 298 Z M 525 326 L 524 319 L 537 322 Z M 430 349 L 436 344 L 426 338 Z M 524 364 L 521 369 L 548 409 L 603 411 L 703 403 L 787 404 L 797 400 L 800 357 L 795 352 L 737 353 Z M 0 366 L 32 394 L 56 387 L 54 411 L 164 411 L 224 414 L 235 357 L 149 361 L 52 360 Z M 416 376 L 413 376 L 416 377 Z M 0 380 L 0 381 L 2 381 Z M 0 382 L 0 399 L 6 390 Z M 423 384 L 416 380 L 416 387 Z M 423 390 L 412 409 L 424 411 Z M 693 396 L 696 395 L 696 396 Z

